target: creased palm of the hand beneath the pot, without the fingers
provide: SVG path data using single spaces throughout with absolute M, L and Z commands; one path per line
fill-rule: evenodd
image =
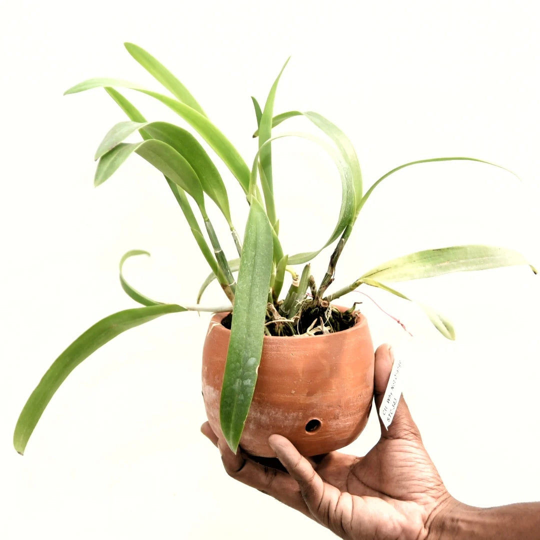
M 325 482 L 323 524 L 343 538 L 425 537 L 430 512 L 445 493 L 415 441 L 381 438 L 364 457 L 332 452 L 314 465 Z M 365 536 L 355 534 L 360 530 Z

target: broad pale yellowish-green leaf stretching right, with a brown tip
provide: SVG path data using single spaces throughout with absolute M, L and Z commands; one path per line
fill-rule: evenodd
M 360 279 L 408 281 L 432 278 L 450 272 L 485 270 L 502 266 L 526 265 L 527 259 L 514 249 L 467 245 L 426 249 L 399 257 L 371 269 Z M 535 269 L 531 266 L 533 271 Z

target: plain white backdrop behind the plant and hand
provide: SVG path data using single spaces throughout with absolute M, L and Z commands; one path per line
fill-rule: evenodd
M 339 283 L 417 249 L 461 243 L 515 247 L 540 264 L 534 4 L 335 4 L 95 0 L 1 8 L 0 537 L 331 537 L 230 480 L 199 433 L 204 315 L 168 315 L 100 349 L 55 395 L 25 456 L 12 448 L 19 411 L 53 359 L 98 319 L 134 307 L 117 278 L 125 251 L 152 253 L 131 260 L 126 274 L 158 300 L 193 302 L 207 273 L 167 186 L 143 160 L 132 157 L 93 188 L 93 153 L 123 113 L 102 90 L 62 93 L 95 76 L 157 89 L 124 41 L 175 72 L 247 163 L 256 145 L 249 97 L 264 103 L 292 55 L 276 112 L 315 110 L 338 124 L 367 185 L 396 165 L 436 156 L 494 161 L 522 178 L 467 163 L 396 174 L 357 222 Z M 148 118 L 173 120 L 151 99 L 129 95 Z M 290 127 L 309 129 L 300 119 Z M 338 178 L 307 143 L 277 143 L 274 154 L 285 249 L 315 248 L 336 219 Z M 247 205 L 221 170 L 242 230 Z M 328 256 L 313 265 L 319 279 Z M 369 292 L 415 336 L 402 353 L 405 393 L 449 490 L 476 505 L 538 500 L 540 281 L 515 267 L 401 290 L 446 314 L 457 332 L 448 342 L 413 305 Z M 401 328 L 367 298 L 343 302 L 355 300 L 365 302 L 376 344 L 402 341 Z M 222 301 L 212 288 L 206 302 Z M 377 429 L 372 418 L 350 451 L 365 453 Z

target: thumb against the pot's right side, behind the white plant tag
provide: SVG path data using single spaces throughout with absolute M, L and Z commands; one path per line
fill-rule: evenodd
M 377 409 L 377 415 L 381 408 L 382 399 L 388 381 L 390 379 L 390 372 L 392 372 L 392 366 L 394 365 L 394 353 L 392 347 L 388 345 L 381 345 L 375 352 L 375 407 Z M 388 439 L 406 439 L 406 440 L 418 440 L 422 441 L 420 431 L 416 427 L 413 418 L 410 415 L 407 403 L 400 397 L 400 402 L 397 404 L 397 409 L 394 415 L 394 420 L 388 426 L 388 429 L 384 427 L 381 417 L 379 416 L 379 422 L 381 424 L 381 438 Z

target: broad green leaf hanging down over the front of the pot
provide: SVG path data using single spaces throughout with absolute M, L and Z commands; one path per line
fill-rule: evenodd
M 221 430 L 233 452 L 257 382 L 272 267 L 272 227 L 257 200 L 249 208 L 244 239 L 220 403 Z

